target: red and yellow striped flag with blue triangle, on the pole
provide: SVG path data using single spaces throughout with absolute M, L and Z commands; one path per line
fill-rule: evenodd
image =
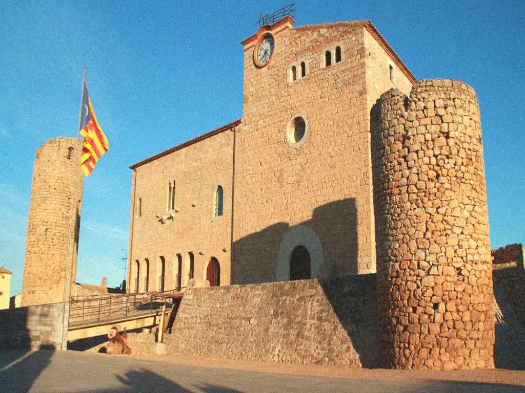
M 80 135 L 84 137 L 80 166 L 84 170 L 86 176 L 89 176 L 93 171 L 93 168 L 95 168 L 95 164 L 99 158 L 109 150 L 109 143 L 106 135 L 104 135 L 97 122 L 95 112 L 93 112 L 86 79 L 84 79 L 84 86 L 82 89 Z

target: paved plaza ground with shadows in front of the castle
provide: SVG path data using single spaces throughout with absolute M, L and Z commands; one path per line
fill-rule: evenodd
M 525 372 L 422 372 L 185 356 L 0 352 L 2 392 L 525 392 Z

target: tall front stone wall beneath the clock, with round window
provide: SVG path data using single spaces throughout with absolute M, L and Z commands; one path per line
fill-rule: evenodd
M 289 255 L 283 258 L 280 252 L 289 248 L 291 253 L 298 245 L 307 247 L 312 265 L 321 266 L 320 274 L 312 278 L 374 272 L 366 82 L 370 58 L 363 23 L 272 29 L 275 51 L 264 68 L 254 64 L 256 40 L 244 44 L 243 123 L 235 145 L 232 282 L 282 279 L 279 264 L 281 259 L 288 262 Z M 332 64 L 326 67 L 325 51 L 334 52 L 337 46 L 341 61 L 336 63 L 332 54 Z M 370 51 L 386 56 L 381 48 Z M 306 75 L 300 77 L 303 61 Z M 292 64 L 298 67 L 296 81 Z M 391 82 L 391 86 L 405 89 L 404 83 Z M 290 146 L 286 129 L 299 115 L 306 122 L 306 135 L 297 146 Z M 339 220 L 332 222 L 332 218 Z M 298 226 L 307 227 L 303 232 L 312 234 L 309 239 L 295 236 Z M 295 244 L 285 244 L 289 238 Z M 322 252 L 314 253 L 312 243 L 319 244 Z

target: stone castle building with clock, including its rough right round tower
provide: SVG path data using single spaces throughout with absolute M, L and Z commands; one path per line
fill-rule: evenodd
M 493 367 L 474 90 L 417 81 L 370 21 L 242 45 L 242 118 L 131 166 L 129 291 L 376 272 L 388 366 Z

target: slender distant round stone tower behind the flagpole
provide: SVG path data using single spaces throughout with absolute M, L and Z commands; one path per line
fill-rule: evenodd
M 36 150 L 22 280 L 23 306 L 56 303 L 64 298 L 71 193 L 74 171 L 77 170 L 66 301 L 71 296 L 77 270 L 84 181 L 80 167 L 81 146 L 82 141 L 76 138 L 55 138 Z

